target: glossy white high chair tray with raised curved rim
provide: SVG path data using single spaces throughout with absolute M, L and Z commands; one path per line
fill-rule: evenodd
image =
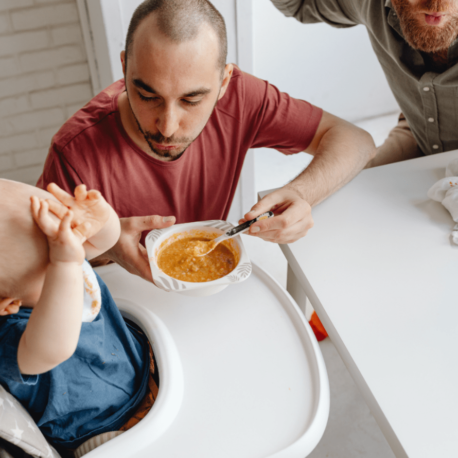
M 320 348 L 289 293 L 253 264 L 212 296 L 166 292 L 117 265 L 96 269 L 143 324 L 160 387 L 138 425 L 91 457 L 304 458 L 329 414 Z

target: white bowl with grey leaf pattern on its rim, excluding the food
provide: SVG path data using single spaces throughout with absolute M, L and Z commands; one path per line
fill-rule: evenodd
M 145 243 L 154 284 L 165 291 L 175 291 L 188 296 L 208 296 L 221 291 L 231 283 L 239 283 L 248 278 L 251 273 L 251 262 L 239 235 L 227 240 L 238 260 L 236 259 L 237 264 L 234 270 L 224 277 L 212 281 L 194 283 L 172 278 L 157 267 L 157 254 L 160 249 L 169 244 L 163 244 L 167 239 L 170 238 L 170 243 L 172 243 L 176 240 L 192 236 L 193 232 L 198 232 L 199 235 L 205 232 L 218 237 L 232 227 L 234 225 L 227 221 L 210 220 L 175 224 L 165 229 L 153 229 L 150 231 L 146 236 Z M 171 237 L 174 234 L 180 235 Z

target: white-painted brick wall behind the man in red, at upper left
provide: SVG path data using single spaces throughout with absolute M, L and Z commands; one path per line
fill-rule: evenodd
M 1 0 L 0 178 L 36 184 L 52 135 L 91 97 L 76 0 Z

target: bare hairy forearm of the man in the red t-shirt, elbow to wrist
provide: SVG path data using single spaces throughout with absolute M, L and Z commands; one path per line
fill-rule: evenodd
M 356 177 L 374 156 L 371 135 L 343 121 L 321 137 L 311 163 L 285 187 L 313 207 Z

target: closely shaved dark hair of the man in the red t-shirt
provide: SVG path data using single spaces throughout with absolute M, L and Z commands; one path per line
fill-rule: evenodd
M 157 15 L 159 30 L 175 43 L 192 40 L 203 23 L 216 33 L 219 41 L 217 66 L 224 73 L 227 56 L 227 34 L 224 18 L 208 0 L 145 0 L 135 9 L 126 36 L 125 62 L 132 52 L 133 38 L 138 25 L 150 14 Z

